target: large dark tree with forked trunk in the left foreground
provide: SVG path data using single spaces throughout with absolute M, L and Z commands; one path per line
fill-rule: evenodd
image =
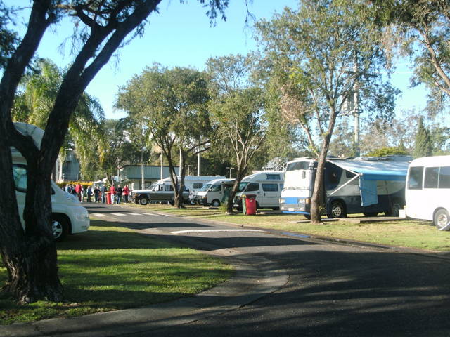
M 20 303 L 46 298 L 60 301 L 56 245 L 51 232 L 51 171 L 63 145 L 72 112 L 80 95 L 108 62 L 129 33 L 143 25 L 161 0 L 34 0 L 27 32 L 15 48 L 0 81 L 0 251 L 8 281 L 4 287 Z M 205 2 L 205 0 L 200 0 Z M 228 1 L 210 1 L 210 18 L 223 15 Z M 72 16 L 79 28 L 79 51 L 65 72 L 38 148 L 19 133 L 11 110 L 20 80 L 37 51 L 46 29 L 60 18 Z M 15 201 L 13 146 L 27 160 L 27 195 L 20 223 Z

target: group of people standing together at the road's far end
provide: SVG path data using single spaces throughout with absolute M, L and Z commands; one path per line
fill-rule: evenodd
M 84 188 L 80 183 L 75 186 L 71 184 L 65 185 L 65 188 L 63 188 L 63 190 L 65 190 L 65 192 L 75 194 L 80 202 L 83 201 Z M 120 204 L 122 201 L 125 204 L 128 203 L 128 197 L 130 194 L 128 185 L 125 185 L 122 188 L 120 185 L 117 185 L 117 187 L 115 187 L 115 184 L 111 185 L 109 188 L 106 187 L 106 185 L 95 185 L 94 189 L 92 188 L 92 186 L 88 186 L 86 189 L 87 202 L 91 202 L 91 198 L 94 195 L 94 202 L 101 202 L 102 204 L 106 204 L 106 196 L 108 192 L 111 196 L 112 204 Z

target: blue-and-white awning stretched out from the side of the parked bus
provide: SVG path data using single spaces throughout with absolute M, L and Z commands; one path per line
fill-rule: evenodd
M 407 161 L 329 160 L 347 171 L 359 173 L 361 180 L 406 180 Z

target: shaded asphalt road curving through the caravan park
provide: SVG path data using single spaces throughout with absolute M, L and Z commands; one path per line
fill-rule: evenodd
M 238 310 L 120 336 L 450 336 L 446 258 L 250 232 L 142 209 L 87 207 L 103 220 L 197 249 L 233 248 L 288 272 L 284 287 Z

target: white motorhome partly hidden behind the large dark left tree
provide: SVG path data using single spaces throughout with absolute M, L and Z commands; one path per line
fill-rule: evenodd
M 24 135 L 32 136 L 37 147 L 41 146 L 44 131 L 37 126 L 14 123 L 15 128 Z M 23 223 L 23 209 L 25 208 L 25 194 L 27 192 L 27 161 L 11 147 L 13 157 L 13 174 L 15 182 L 15 197 L 17 199 L 20 220 Z M 73 194 L 64 192 L 51 180 L 51 216 L 53 237 L 63 239 L 68 234 L 76 234 L 89 230 L 89 213 Z

